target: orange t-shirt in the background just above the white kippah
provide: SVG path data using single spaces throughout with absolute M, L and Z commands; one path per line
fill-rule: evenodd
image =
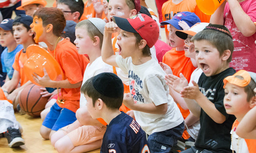
M 101 0 L 101 3 L 102 3 L 102 0 Z M 93 7 L 93 3 L 91 3 L 90 6 L 86 7 L 88 4 L 88 1 L 86 1 L 84 3 L 84 11 L 83 11 L 83 15 L 81 16 L 80 20 L 79 21 L 82 21 L 82 20 L 86 20 L 86 19 L 89 19 L 91 17 L 96 17 L 96 12 L 94 11 L 94 7 Z M 104 19 L 106 16 L 105 16 L 105 13 L 104 11 L 102 12 L 102 16 L 101 16 L 101 19 Z

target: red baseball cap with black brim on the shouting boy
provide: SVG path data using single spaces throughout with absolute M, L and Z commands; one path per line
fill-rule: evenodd
M 113 21 L 124 31 L 138 33 L 142 39 L 147 41 L 150 48 L 158 40 L 159 28 L 157 22 L 146 14 L 137 14 L 127 19 L 114 16 Z

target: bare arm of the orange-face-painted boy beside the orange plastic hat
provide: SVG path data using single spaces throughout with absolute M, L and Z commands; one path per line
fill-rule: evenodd
M 35 74 L 33 75 L 33 79 L 36 83 L 43 87 L 50 87 L 50 88 L 78 88 L 82 86 L 82 81 L 71 84 L 68 79 L 61 80 L 61 81 L 53 81 L 50 79 L 49 75 L 47 74 L 47 71 L 44 68 L 44 76 L 40 77 L 39 75 Z

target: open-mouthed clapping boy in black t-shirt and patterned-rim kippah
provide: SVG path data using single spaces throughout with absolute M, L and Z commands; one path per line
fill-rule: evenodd
M 191 41 L 195 44 L 197 65 L 203 73 L 198 85 L 192 81 L 193 86 L 184 87 L 180 94 L 191 99 L 185 102 L 193 115 L 200 117 L 201 127 L 195 146 L 183 152 L 231 152 L 229 133 L 235 117 L 225 111 L 222 80 L 235 73 L 229 67 L 234 49 L 232 36 L 225 26 L 209 24 Z

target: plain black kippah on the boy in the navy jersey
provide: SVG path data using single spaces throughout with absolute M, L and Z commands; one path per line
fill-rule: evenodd
M 93 87 L 106 97 L 117 98 L 124 94 L 123 82 L 114 73 L 103 72 L 93 78 Z

